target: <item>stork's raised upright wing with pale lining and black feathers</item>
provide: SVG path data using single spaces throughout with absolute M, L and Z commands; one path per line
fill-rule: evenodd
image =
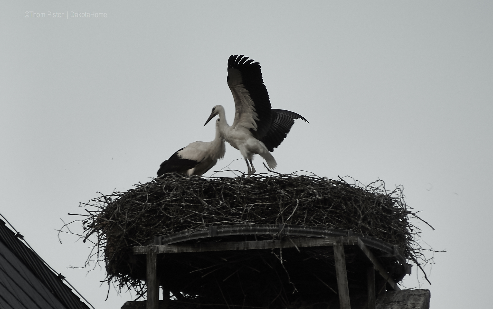
M 228 86 L 236 106 L 231 127 L 243 126 L 260 139 L 269 131 L 272 121 L 271 102 L 259 63 L 247 59 L 235 55 L 228 60 Z

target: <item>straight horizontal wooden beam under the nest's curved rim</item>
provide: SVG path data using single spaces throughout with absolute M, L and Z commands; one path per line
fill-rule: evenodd
M 225 242 L 225 243 L 199 243 L 199 244 L 177 244 L 155 246 L 157 253 L 182 253 L 182 252 L 205 252 L 205 251 L 229 251 L 229 250 L 252 250 L 272 248 L 294 248 L 294 247 L 324 247 L 334 246 L 336 240 L 343 245 L 356 245 L 357 237 L 327 237 L 327 238 L 305 238 L 293 240 L 262 240 L 249 242 Z M 146 254 L 148 246 L 134 247 L 134 254 Z

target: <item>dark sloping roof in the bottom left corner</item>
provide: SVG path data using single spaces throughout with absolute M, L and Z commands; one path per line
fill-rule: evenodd
M 1 219 L 0 308 L 89 309 Z

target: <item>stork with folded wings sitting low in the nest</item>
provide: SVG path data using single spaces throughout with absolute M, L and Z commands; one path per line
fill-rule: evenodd
M 219 131 L 220 118 L 216 120 L 215 138 L 211 142 L 195 141 L 174 153 L 161 163 L 157 177 L 164 173 L 178 172 L 187 176 L 202 176 L 212 168 L 226 152 L 224 138 Z

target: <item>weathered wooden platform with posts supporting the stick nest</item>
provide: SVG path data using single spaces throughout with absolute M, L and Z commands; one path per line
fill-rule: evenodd
M 235 235 L 273 235 L 274 240 L 206 242 L 207 239 L 217 239 Z M 302 237 L 302 238 L 294 238 Z M 294 238 L 294 239 L 293 239 Z M 202 240 L 190 244 L 189 241 Z M 405 263 L 405 258 L 398 246 L 387 244 L 372 237 L 365 237 L 352 231 L 335 230 L 323 227 L 283 225 L 283 224 L 248 224 L 211 226 L 189 231 L 157 236 L 154 243 L 147 246 L 134 247 L 134 254 L 146 254 L 147 260 L 147 309 L 159 308 L 159 283 L 156 275 L 157 254 L 197 253 L 232 250 L 264 250 L 274 248 L 304 247 L 333 247 L 334 263 L 337 275 L 337 294 L 341 309 L 350 309 L 350 294 L 346 271 L 345 246 L 359 248 L 365 256 L 369 267 L 366 268 L 367 308 L 376 308 L 376 296 L 388 286 L 394 291 L 400 288 L 386 271 L 381 261 L 372 253 L 377 249 L 392 257 L 399 263 L 401 273 L 410 274 L 411 267 Z M 377 278 L 375 278 L 377 274 Z M 402 276 L 402 277 L 403 277 Z M 400 280 L 400 279 L 399 279 Z M 376 283 L 380 282 L 380 283 Z M 335 291 L 334 291 L 335 292 Z

